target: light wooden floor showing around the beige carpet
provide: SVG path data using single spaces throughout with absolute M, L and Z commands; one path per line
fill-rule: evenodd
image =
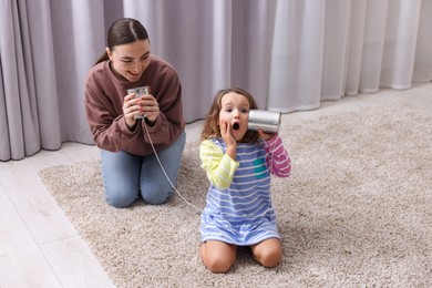
M 399 101 L 432 111 L 432 83 L 322 102 L 319 110 L 284 115 L 282 125 Z M 187 125 L 187 140 L 198 137 L 200 125 L 200 121 Z M 64 143 L 55 152 L 0 162 L 0 287 L 113 286 L 37 174 L 44 167 L 96 157 L 94 146 Z

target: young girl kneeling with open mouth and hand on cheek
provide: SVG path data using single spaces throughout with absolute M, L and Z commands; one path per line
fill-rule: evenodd
M 257 104 L 241 89 L 216 94 L 204 123 L 199 157 L 210 187 L 202 214 L 199 254 L 213 272 L 235 263 L 237 246 L 275 267 L 281 258 L 280 236 L 270 198 L 270 173 L 288 177 L 290 158 L 278 134 L 248 131 Z

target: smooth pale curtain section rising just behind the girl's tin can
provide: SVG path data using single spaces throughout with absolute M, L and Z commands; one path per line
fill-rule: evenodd
M 278 1 L 267 109 L 317 109 L 320 101 L 326 2 Z

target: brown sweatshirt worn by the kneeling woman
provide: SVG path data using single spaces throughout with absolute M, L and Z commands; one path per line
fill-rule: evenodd
M 127 89 L 148 85 L 161 110 L 155 124 L 147 125 L 148 133 L 156 151 L 168 147 L 185 127 L 182 85 L 175 69 L 163 59 L 151 55 L 151 63 L 141 79 L 125 82 L 113 74 L 109 62 L 94 65 L 85 82 L 85 112 L 96 146 L 143 156 L 153 153 L 144 122 L 138 120 L 131 131 L 123 116 Z

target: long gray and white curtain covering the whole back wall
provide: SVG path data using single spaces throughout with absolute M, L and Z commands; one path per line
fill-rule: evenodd
M 431 16 L 432 0 L 0 0 L 0 160 L 93 143 L 84 81 L 117 18 L 177 69 L 192 122 L 227 86 L 288 113 L 429 82 Z

